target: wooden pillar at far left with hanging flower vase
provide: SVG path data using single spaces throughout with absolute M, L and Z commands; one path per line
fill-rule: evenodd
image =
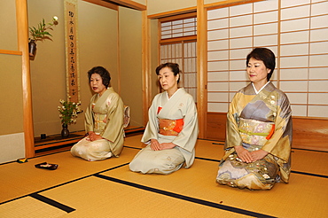
M 18 50 L 22 52 L 21 73 L 23 88 L 25 157 L 32 158 L 35 156 L 35 139 L 32 116 L 31 76 L 28 54 L 27 0 L 16 0 L 16 20 L 18 32 Z

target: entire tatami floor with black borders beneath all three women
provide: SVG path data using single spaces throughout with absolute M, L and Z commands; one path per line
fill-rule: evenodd
M 249 191 L 215 183 L 223 143 L 198 140 L 190 169 L 171 175 L 129 171 L 144 147 L 141 135 L 125 140 L 120 158 L 88 162 L 69 152 L 0 166 L 0 217 L 325 217 L 328 214 L 327 152 L 293 150 L 289 184 Z M 54 171 L 35 168 L 43 161 Z M 40 197 L 38 200 L 33 197 Z M 43 196 L 56 207 L 45 204 Z M 43 202 L 44 201 L 44 202 Z M 26 202 L 26 203 L 25 203 Z M 74 211 L 61 208 L 67 206 Z M 20 211 L 15 212 L 13 208 Z M 36 208 L 36 209 L 35 209 Z M 48 216 L 54 210 L 54 216 Z M 23 211 L 23 212 L 21 212 Z M 4 216 L 4 213 L 5 216 Z

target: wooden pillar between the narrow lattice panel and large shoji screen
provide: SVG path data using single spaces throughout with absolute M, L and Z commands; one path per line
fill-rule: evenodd
M 197 0 L 197 110 L 199 138 L 207 137 L 207 13 Z

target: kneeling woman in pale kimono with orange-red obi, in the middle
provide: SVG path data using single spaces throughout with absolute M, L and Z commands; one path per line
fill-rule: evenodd
M 168 175 L 184 165 L 191 167 L 199 133 L 197 109 L 184 88 L 178 89 L 179 66 L 166 63 L 156 68 L 164 92 L 156 95 L 149 109 L 149 121 L 142 142 L 129 168 L 142 174 Z

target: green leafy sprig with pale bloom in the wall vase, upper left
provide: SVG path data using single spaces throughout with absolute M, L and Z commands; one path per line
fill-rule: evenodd
M 48 29 L 52 29 L 52 26 L 54 25 L 58 25 L 58 17 L 54 16 L 51 19 L 51 22 L 49 23 L 44 23 L 44 19 L 43 21 L 40 21 L 40 23 L 37 25 L 37 27 L 29 27 L 29 33 L 31 35 L 31 40 L 34 41 L 43 41 L 45 38 L 50 38 L 50 36 L 52 36 L 48 31 Z M 48 26 L 46 26 L 48 25 Z

